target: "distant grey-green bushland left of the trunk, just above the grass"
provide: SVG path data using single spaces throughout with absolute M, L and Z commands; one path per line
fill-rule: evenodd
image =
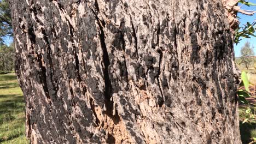
M 0 46 L 0 71 L 11 71 L 14 69 L 14 46 Z

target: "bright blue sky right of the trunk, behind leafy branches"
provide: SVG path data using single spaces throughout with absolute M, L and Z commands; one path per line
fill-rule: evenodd
M 256 4 L 256 0 L 249 0 L 248 2 Z M 239 4 L 239 5 L 241 5 L 241 4 Z M 254 10 L 254 11 L 256 11 L 256 6 L 247 7 L 247 5 L 243 4 L 241 9 L 247 9 L 247 10 Z M 241 18 L 240 19 L 240 27 L 242 27 L 243 24 L 246 24 L 246 22 L 252 23 L 254 20 L 256 20 L 256 13 L 254 15 L 252 15 L 252 16 L 250 16 L 250 15 L 243 15 L 241 13 L 238 13 L 237 16 Z M 256 35 L 256 32 L 254 33 L 254 35 Z M 254 55 L 256 55 L 256 37 L 251 37 L 250 39 L 243 39 L 243 40 L 241 40 L 240 43 L 237 44 L 237 45 L 234 44 L 234 50 L 235 50 L 235 56 L 236 57 L 240 57 L 241 47 L 245 44 L 245 42 L 247 40 L 251 43 L 251 45 L 254 45 Z

